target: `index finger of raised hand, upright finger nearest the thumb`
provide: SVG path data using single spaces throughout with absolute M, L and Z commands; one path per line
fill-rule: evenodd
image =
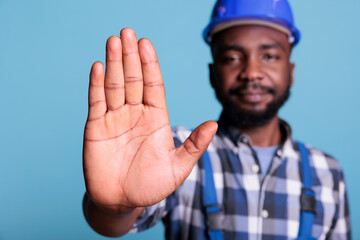
M 154 46 L 148 39 L 140 39 L 139 53 L 144 78 L 144 104 L 166 108 L 165 88 Z

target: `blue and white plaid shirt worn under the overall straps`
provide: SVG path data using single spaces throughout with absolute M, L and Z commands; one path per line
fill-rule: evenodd
M 235 128 L 219 124 L 208 153 L 214 171 L 217 199 L 224 215 L 224 239 L 294 239 L 300 220 L 302 188 L 300 157 L 290 127 L 280 122 L 285 142 L 262 177 L 250 139 Z M 173 129 L 179 146 L 191 131 Z M 309 147 L 316 215 L 312 237 L 350 239 L 350 218 L 343 173 L 325 153 Z M 163 220 L 166 239 L 208 239 L 202 204 L 202 159 L 168 198 L 146 207 L 131 232 Z

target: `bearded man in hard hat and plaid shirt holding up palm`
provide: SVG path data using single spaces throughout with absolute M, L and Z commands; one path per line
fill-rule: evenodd
M 121 236 L 163 220 L 168 239 L 350 239 L 339 165 L 278 117 L 299 38 L 286 0 L 218 1 L 204 39 L 223 112 L 191 133 L 171 132 L 149 40 L 110 37 L 105 75 L 99 62 L 91 70 L 84 136 L 92 228 Z

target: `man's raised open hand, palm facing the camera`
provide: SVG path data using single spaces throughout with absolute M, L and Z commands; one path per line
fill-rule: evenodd
M 83 152 L 89 196 L 109 207 L 161 201 L 190 174 L 216 129 L 205 122 L 175 148 L 154 47 L 123 29 L 107 41 L 105 74 L 100 62 L 90 73 Z

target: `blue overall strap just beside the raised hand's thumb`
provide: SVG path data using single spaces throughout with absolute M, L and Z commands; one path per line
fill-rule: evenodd
M 223 240 L 223 217 L 216 197 L 213 170 L 207 151 L 202 155 L 204 164 L 202 203 L 206 212 L 206 229 L 210 240 Z

